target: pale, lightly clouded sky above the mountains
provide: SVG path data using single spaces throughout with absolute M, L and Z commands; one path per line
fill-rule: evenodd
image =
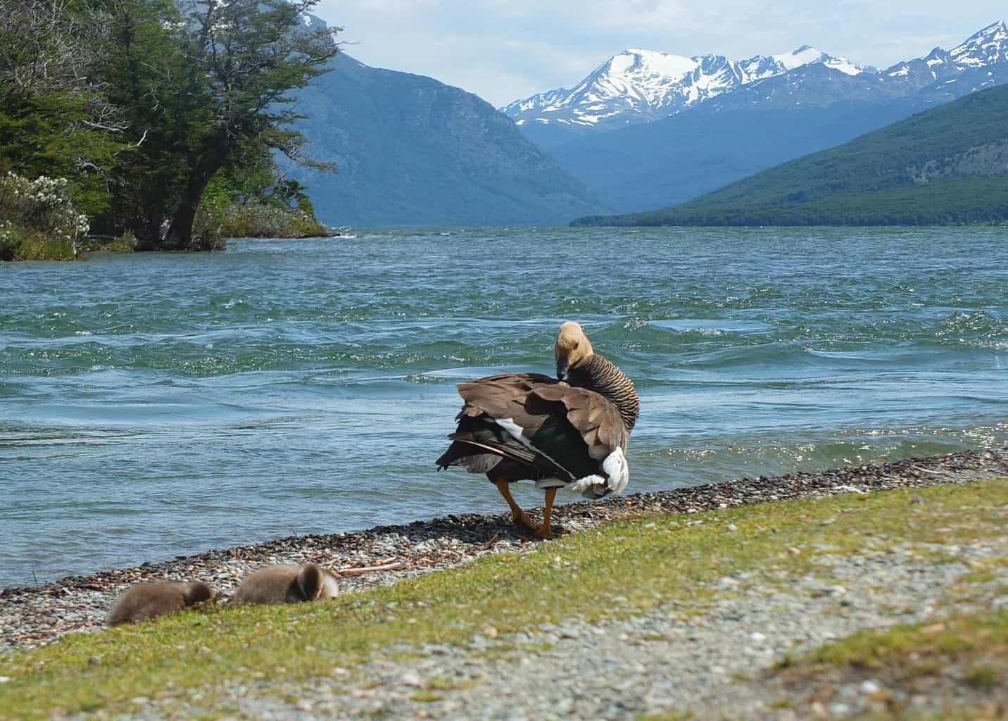
M 320 0 L 365 65 L 425 75 L 495 106 L 571 88 L 641 47 L 733 59 L 812 45 L 885 68 L 1008 20 L 1004 0 Z

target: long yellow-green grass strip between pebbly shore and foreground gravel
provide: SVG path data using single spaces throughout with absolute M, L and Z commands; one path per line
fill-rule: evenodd
M 0 717 L 128 710 L 130 700 L 186 699 L 218 709 L 218 688 L 258 679 L 330 677 L 379 651 L 469 642 L 544 621 L 592 621 L 676 603 L 699 612 L 740 572 L 760 583 L 821 573 L 822 554 L 905 543 L 1001 537 L 1008 479 L 963 486 L 767 503 L 689 515 L 642 515 L 524 554 L 484 557 L 332 601 L 211 608 L 156 623 L 69 636 L 0 658 Z M 978 569 L 978 574 L 1003 568 Z M 413 650 L 410 650 L 413 649 Z M 832 656 L 815 664 L 840 664 Z M 797 662 L 792 665 L 797 668 Z M 979 673 L 979 672 L 978 672 Z M 192 698 L 193 689 L 202 696 Z

